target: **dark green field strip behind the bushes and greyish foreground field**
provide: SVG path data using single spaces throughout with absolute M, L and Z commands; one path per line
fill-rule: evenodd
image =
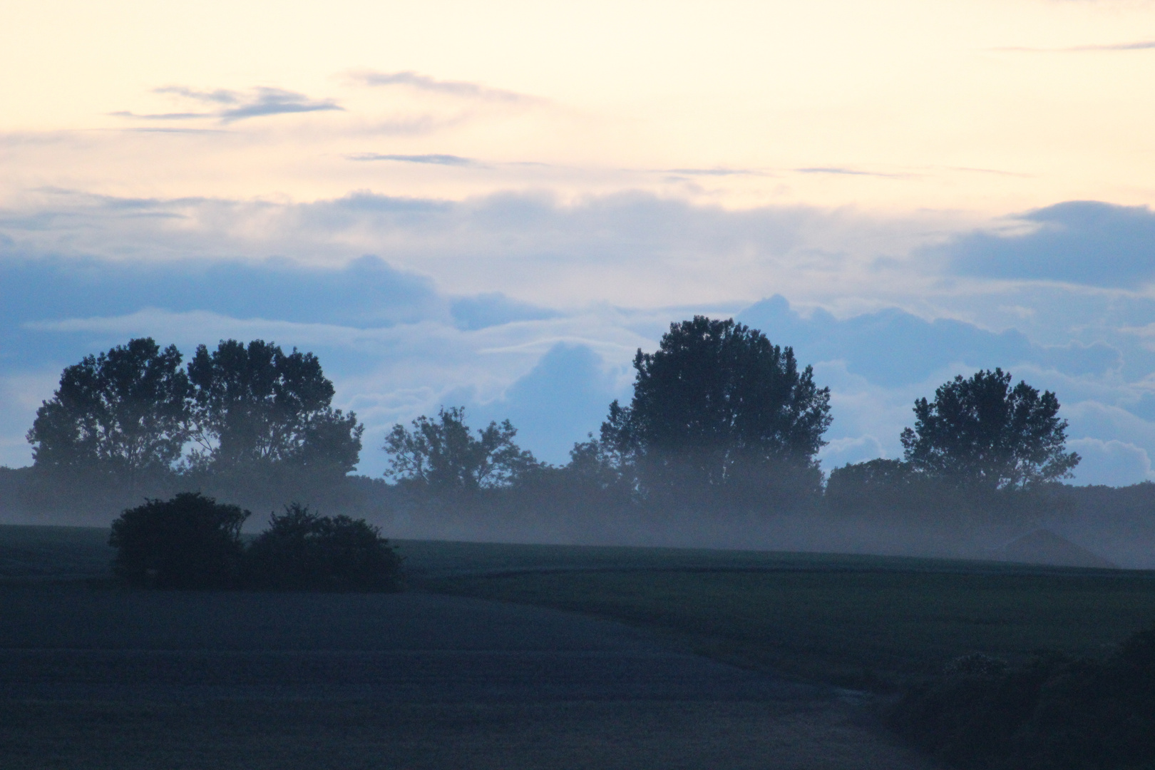
M 1155 623 L 1155 573 L 683 548 L 400 541 L 417 591 L 656 629 L 805 680 L 886 690 L 981 651 L 1098 656 Z M 107 576 L 104 532 L 0 528 L 8 582 Z

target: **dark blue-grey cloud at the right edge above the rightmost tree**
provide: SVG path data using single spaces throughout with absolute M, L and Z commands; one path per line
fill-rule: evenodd
M 1134 289 L 1155 279 L 1155 212 L 1071 201 L 1030 211 L 1019 232 L 973 232 L 941 249 L 957 275 Z

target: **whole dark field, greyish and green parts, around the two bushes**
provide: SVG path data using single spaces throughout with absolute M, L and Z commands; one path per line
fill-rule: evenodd
M 830 685 L 1155 621 L 1150 573 L 657 548 L 409 541 L 403 595 L 126 591 L 104 537 L 0 528 L 5 768 L 922 768 Z

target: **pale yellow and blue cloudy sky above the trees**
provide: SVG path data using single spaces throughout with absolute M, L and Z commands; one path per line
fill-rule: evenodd
M 673 321 L 832 389 L 826 470 L 915 398 L 1053 390 L 1079 484 L 1155 479 L 1155 2 L 5 0 L 0 464 L 62 367 L 318 353 L 387 429 L 560 463 Z

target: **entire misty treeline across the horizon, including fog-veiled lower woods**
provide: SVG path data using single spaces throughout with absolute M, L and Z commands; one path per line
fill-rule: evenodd
M 410 537 L 824 548 L 842 546 L 815 532 L 859 524 L 873 537 L 899 537 L 896 523 L 947 537 L 1113 504 L 1103 495 L 1115 491 L 1061 484 L 1079 456 L 1058 398 L 1001 369 L 916 401 L 902 459 L 824 479 L 830 393 L 789 346 L 695 316 L 633 366 L 629 402 L 610 404 L 564 465 L 519 447 L 508 420 L 474 428 L 448 406 L 395 425 L 381 447 L 388 471 L 368 479 L 351 473 L 364 427 L 333 409 L 312 353 L 230 339 L 182 366 L 176 347 L 133 339 L 64 371 L 28 434 L 33 465 L 0 473 L 0 494 L 105 521 L 142 498 L 200 491 L 252 509 L 350 513 Z M 1150 518 L 1147 486 L 1128 494 Z

